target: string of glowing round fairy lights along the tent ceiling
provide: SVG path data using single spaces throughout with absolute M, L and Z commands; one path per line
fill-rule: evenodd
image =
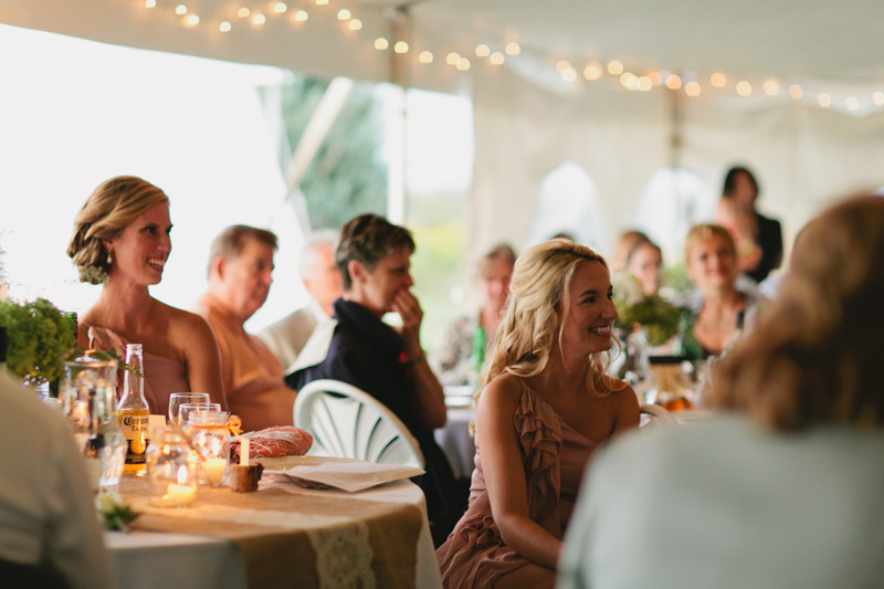
M 212 22 L 203 22 L 202 19 L 185 3 L 169 0 L 139 0 L 145 9 L 149 10 L 171 10 L 180 18 L 180 22 L 187 28 L 213 28 L 219 33 L 230 33 L 235 28 L 250 27 L 252 29 L 264 27 L 269 20 L 287 20 L 293 27 L 304 27 L 309 21 L 311 11 L 330 10 L 330 0 L 313 0 L 309 6 L 290 7 L 286 2 L 264 2 L 252 8 L 242 6 L 233 9 L 225 18 L 214 18 Z M 357 34 L 362 30 L 362 21 L 347 8 L 339 8 L 336 18 L 341 23 L 345 31 Z M 430 50 L 418 51 L 409 45 L 406 40 L 388 39 L 378 36 L 373 40 L 372 46 L 378 52 L 392 51 L 400 55 L 413 55 L 413 60 L 421 65 L 433 63 L 444 63 L 445 66 L 453 67 L 460 72 L 466 72 L 474 65 L 485 63 L 488 66 L 497 67 L 507 60 L 515 59 L 522 54 L 522 48 L 517 41 L 501 43 L 502 46 L 494 48 L 492 44 L 480 43 L 469 50 L 461 49 L 460 52 L 450 51 L 444 59 L 438 59 Z M 550 63 L 551 66 L 551 63 Z M 864 91 L 854 93 L 855 95 L 842 96 L 842 93 L 832 91 L 810 91 L 800 84 L 786 84 L 775 76 L 768 76 L 761 81 L 750 81 L 739 76 L 728 75 L 725 72 L 714 72 L 709 75 L 701 76 L 692 72 L 673 72 L 666 70 L 650 70 L 641 73 L 632 72 L 620 60 L 610 60 L 603 63 L 598 60 L 581 61 L 571 63 L 568 60 L 559 60 L 555 63 L 558 75 L 565 83 L 577 83 L 581 78 L 586 83 L 596 83 L 602 80 L 610 80 L 619 83 L 628 91 L 650 92 L 655 87 L 666 87 L 670 91 L 683 92 L 686 96 L 697 97 L 709 93 L 730 93 L 740 97 L 767 95 L 767 96 L 788 96 L 791 99 L 813 99 L 815 103 L 828 108 L 830 106 L 841 106 L 848 112 L 857 112 L 863 106 L 873 104 L 875 107 L 884 106 L 884 84 L 883 90 Z M 815 94 L 815 95 L 814 95 Z M 838 94 L 838 97 L 835 97 Z M 841 101 L 835 104 L 835 101 Z

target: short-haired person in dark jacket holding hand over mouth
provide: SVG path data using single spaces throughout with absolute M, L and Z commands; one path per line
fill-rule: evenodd
M 423 311 L 411 293 L 414 240 L 408 229 L 377 214 L 361 214 L 340 229 L 335 261 L 344 296 L 334 320 L 314 330 L 286 383 L 301 389 L 330 378 L 354 385 L 387 406 L 418 440 L 427 474 L 418 484 L 427 497 L 434 544 L 448 536 L 466 497 L 433 439 L 445 424 L 445 398 L 421 349 Z M 381 320 L 394 312 L 401 328 Z

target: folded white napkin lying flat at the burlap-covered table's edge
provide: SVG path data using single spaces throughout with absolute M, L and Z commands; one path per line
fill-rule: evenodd
M 355 493 L 383 483 L 411 478 L 424 471 L 399 464 L 372 462 L 326 462 L 316 466 L 295 466 L 284 471 L 290 481 L 307 488 L 340 488 Z

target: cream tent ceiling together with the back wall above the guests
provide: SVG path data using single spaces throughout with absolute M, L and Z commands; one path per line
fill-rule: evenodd
M 834 196 L 884 183 L 881 0 L 319 1 L 0 0 L 0 22 L 467 93 L 474 251 L 499 239 L 524 244 L 541 181 L 562 161 L 588 170 L 613 227 L 634 222 L 643 187 L 667 166 L 717 186 L 728 164 L 748 164 L 787 235 Z M 375 49 L 378 38 L 388 49 Z M 396 54 L 400 40 L 409 51 Z M 513 42 L 517 55 L 506 51 Z M 476 55 L 482 44 L 503 65 Z M 451 53 L 469 69 L 448 64 Z M 625 90 L 607 71 L 612 61 L 657 85 Z M 593 64 L 604 71 L 597 81 L 585 78 Z M 678 90 L 659 85 L 673 74 Z M 750 96 L 738 95 L 740 82 Z M 524 219 L 501 227 L 501 210 Z

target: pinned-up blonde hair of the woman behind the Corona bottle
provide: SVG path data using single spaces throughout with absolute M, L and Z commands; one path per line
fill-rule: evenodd
M 168 201 L 166 192 L 134 176 L 117 176 L 98 185 L 80 209 L 67 244 L 80 282 L 99 284 L 99 276 L 110 271 L 103 240 L 118 238 L 143 212 Z

